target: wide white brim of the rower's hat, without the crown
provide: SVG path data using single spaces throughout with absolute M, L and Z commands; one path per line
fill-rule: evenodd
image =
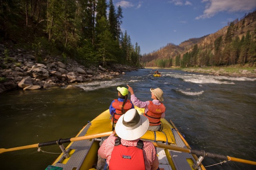
M 116 134 L 124 139 L 124 140 L 136 140 L 139 139 L 140 137 L 142 137 L 146 132 L 147 129 L 149 127 L 149 120 L 146 116 L 140 115 L 140 119 L 141 121 L 139 123 L 141 123 L 140 126 L 138 126 L 135 129 L 129 129 L 127 128 L 125 125 L 123 125 L 123 116 L 125 114 L 123 114 L 118 121 L 116 122 L 116 126 L 115 126 L 115 131 Z

